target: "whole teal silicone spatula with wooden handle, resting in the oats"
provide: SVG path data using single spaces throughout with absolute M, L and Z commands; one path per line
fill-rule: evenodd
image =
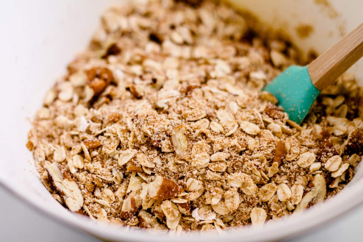
M 324 40 L 322 40 L 324 41 Z M 264 91 L 300 124 L 320 92 L 363 56 L 363 23 L 307 66 L 287 67 Z

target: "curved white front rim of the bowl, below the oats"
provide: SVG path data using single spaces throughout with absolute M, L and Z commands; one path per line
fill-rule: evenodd
M 20 184 L 19 184 L 20 185 Z M 107 239 L 109 241 L 183 241 L 187 237 L 189 241 L 220 241 L 228 239 L 228 241 L 276 241 L 293 235 L 298 235 L 318 226 L 322 226 L 325 222 L 331 221 L 338 216 L 346 214 L 359 204 L 363 203 L 363 179 L 359 179 L 344 188 L 345 196 L 338 196 L 326 200 L 323 204 L 312 206 L 298 216 L 285 216 L 276 222 L 268 223 L 262 228 L 250 229 L 249 226 L 242 228 L 233 228 L 227 230 L 228 233 L 191 233 L 183 232 L 183 236 L 177 236 L 169 233 L 150 233 L 140 229 L 129 229 L 129 227 L 119 227 L 109 225 L 107 223 L 91 221 L 85 216 L 74 214 L 72 212 L 64 213 L 61 210 L 54 211 L 48 206 L 42 206 L 36 201 L 39 199 L 32 192 L 21 192 L 24 190 L 19 188 L 16 182 L 4 179 L 0 174 L 0 186 L 4 187 L 8 192 L 13 194 L 19 200 L 37 210 L 43 215 L 52 218 L 54 221 L 60 222 L 68 227 L 83 230 L 95 237 Z M 23 188 L 24 189 L 24 188 Z M 60 205 L 60 208 L 62 206 Z M 72 214 L 72 215 L 71 215 Z M 132 233 L 130 233 L 132 231 Z

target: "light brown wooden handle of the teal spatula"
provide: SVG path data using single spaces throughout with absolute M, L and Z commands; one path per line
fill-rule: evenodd
M 311 81 L 323 90 L 362 56 L 363 23 L 307 65 Z

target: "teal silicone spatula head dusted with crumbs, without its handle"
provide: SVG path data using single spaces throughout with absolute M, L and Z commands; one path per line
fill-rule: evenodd
M 273 94 L 289 119 L 300 124 L 320 91 L 313 85 L 306 66 L 287 67 L 268 84 L 265 91 Z

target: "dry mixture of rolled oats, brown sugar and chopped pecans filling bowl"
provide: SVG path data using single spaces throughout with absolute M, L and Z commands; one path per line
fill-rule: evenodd
M 145 228 L 254 227 L 334 196 L 363 151 L 352 75 L 301 126 L 261 88 L 297 63 L 217 1 L 114 7 L 37 112 L 27 147 L 53 197 Z

